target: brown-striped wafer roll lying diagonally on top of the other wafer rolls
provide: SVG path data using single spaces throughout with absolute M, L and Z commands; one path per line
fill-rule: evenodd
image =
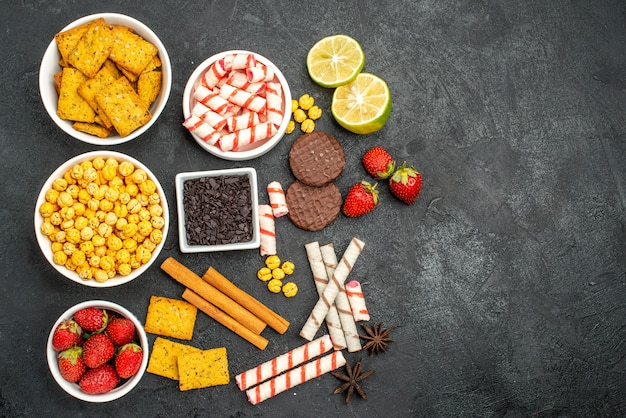
M 328 313 L 328 310 L 332 306 L 332 303 L 335 301 L 335 298 L 339 293 L 339 289 L 346 281 L 346 278 L 350 274 L 350 271 L 352 271 L 352 266 L 354 266 L 354 263 L 363 251 L 364 245 L 365 243 L 358 238 L 352 238 L 350 244 L 348 245 L 348 248 L 346 248 L 346 251 L 341 257 L 341 261 L 335 269 L 333 277 L 328 282 L 328 285 L 324 288 L 324 292 L 320 296 L 319 300 L 315 304 L 315 307 L 311 311 L 309 318 L 302 327 L 302 330 L 300 331 L 301 337 L 309 341 L 311 341 L 313 337 L 315 337 L 315 333 L 320 328 L 322 321 Z M 343 327 L 343 322 L 341 323 L 341 325 Z M 346 336 L 346 342 L 347 340 L 348 336 Z M 350 347 L 350 345 L 348 345 L 348 347 Z

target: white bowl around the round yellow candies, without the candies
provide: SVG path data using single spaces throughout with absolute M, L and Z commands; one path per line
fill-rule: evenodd
M 105 160 L 107 158 L 115 158 L 118 162 L 129 161 L 134 164 L 135 169 L 137 168 L 143 169 L 148 174 L 148 177 L 156 184 L 157 192 L 161 200 L 161 206 L 163 207 L 163 215 L 161 216 L 163 217 L 165 221 L 165 225 L 163 227 L 163 239 L 152 252 L 152 257 L 150 258 L 150 260 L 147 263 L 142 264 L 141 267 L 137 269 L 133 269 L 133 271 L 127 276 L 122 276 L 118 274 L 115 277 L 105 282 L 97 282 L 94 279 L 83 280 L 78 276 L 78 273 L 76 273 L 75 271 L 68 270 L 67 268 L 65 268 L 65 266 L 60 266 L 53 262 L 51 242 L 50 242 L 50 239 L 44 234 L 42 234 L 41 232 L 41 225 L 43 224 L 44 220 L 41 214 L 39 213 L 39 207 L 41 206 L 42 203 L 46 201 L 46 191 L 52 187 L 52 183 L 54 182 L 55 179 L 62 178 L 64 173 L 66 173 L 74 165 L 80 164 L 83 161 L 88 161 L 88 160 L 91 161 L 96 157 L 102 157 Z M 156 260 L 159 253 L 163 249 L 163 246 L 165 245 L 165 240 L 167 238 L 168 230 L 169 230 L 169 210 L 168 210 L 168 205 L 167 205 L 167 199 L 165 197 L 165 192 L 163 191 L 163 187 L 161 186 L 161 183 L 159 183 L 156 176 L 143 163 L 139 162 L 138 160 L 126 154 L 122 154 L 120 152 L 91 151 L 91 152 L 87 152 L 81 155 L 77 155 L 76 157 L 71 158 L 70 160 L 66 161 L 50 175 L 48 180 L 46 180 L 43 187 L 41 188 L 41 191 L 39 192 L 39 196 L 37 197 L 37 203 L 35 205 L 35 235 L 37 236 L 37 242 L 39 243 L 39 248 L 41 248 L 41 251 L 46 257 L 46 260 L 48 260 L 48 262 L 52 265 L 52 267 L 54 267 L 63 276 L 67 277 L 70 280 L 75 281 L 76 283 L 80 283 L 85 286 L 112 287 L 112 286 L 118 286 L 124 283 L 128 283 L 131 280 L 134 280 L 137 277 L 139 277 L 143 272 L 145 272 L 152 265 L 154 260 Z

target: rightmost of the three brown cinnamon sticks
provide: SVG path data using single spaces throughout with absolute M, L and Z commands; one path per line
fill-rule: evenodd
M 287 331 L 287 328 L 289 328 L 289 321 L 272 311 L 267 306 L 263 305 L 239 287 L 235 286 L 235 284 L 220 274 L 220 272 L 215 270 L 213 267 L 209 267 L 206 273 L 202 276 L 202 280 L 220 290 L 225 295 L 232 298 L 235 302 L 252 312 L 276 332 L 284 334 L 285 331 Z

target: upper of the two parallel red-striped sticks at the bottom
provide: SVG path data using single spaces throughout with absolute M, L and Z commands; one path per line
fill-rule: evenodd
M 278 376 L 284 371 L 293 369 L 302 363 L 326 353 L 332 348 L 332 343 L 328 334 L 318 338 L 317 340 L 308 342 L 298 348 L 294 348 L 285 354 L 266 361 L 263 364 L 246 370 L 235 376 L 235 381 L 240 390 L 246 390 L 265 380 Z

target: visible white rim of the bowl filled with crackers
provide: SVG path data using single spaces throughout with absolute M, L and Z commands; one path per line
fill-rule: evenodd
M 45 94 L 45 92 L 51 93 L 52 91 L 54 91 L 54 88 L 50 87 L 50 85 L 54 84 L 54 80 L 50 74 L 44 73 L 44 71 L 42 70 L 43 70 L 43 66 L 45 63 L 45 58 L 55 53 L 58 54 L 58 48 L 57 48 L 56 41 L 54 40 L 54 38 L 52 39 L 52 41 L 46 48 L 43 54 L 42 60 L 41 60 L 41 64 L 39 66 L 39 95 L 41 96 L 44 108 L 48 112 L 48 115 L 50 116 L 50 118 L 52 118 L 52 120 L 56 123 L 56 125 L 59 128 L 61 128 L 65 133 L 70 135 L 72 138 L 77 139 L 82 142 L 86 142 L 88 144 L 92 144 L 92 145 L 105 145 L 105 146 L 119 145 L 128 141 L 132 141 L 133 139 L 137 138 L 138 136 L 145 133 L 148 129 L 150 129 L 150 127 L 154 125 L 156 120 L 159 118 L 159 116 L 165 109 L 165 106 L 167 106 L 167 101 L 169 100 L 170 92 L 172 89 L 171 63 L 170 63 L 169 55 L 167 54 L 167 50 L 165 49 L 165 46 L 161 42 L 161 39 L 156 35 L 156 33 L 154 33 L 152 29 L 150 29 L 148 26 L 146 26 L 144 23 L 140 22 L 139 20 L 133 17 L 130 17 L 128 15 L 121 14 L 121 13 L 96 13 L 96 14 L 84 16 L 68 24 L 59 32 L 63 32 L 68 29 L 75 28 L 77 26 L 82 25 L 83 23 L 86 23 L 86 22 L 89 22 L 91 20 L 98 19 L 98 18 L 104 18 L 105 20 L 107 19 L 108 20 L 117 20 L 117 19 L 131 20 L 133 23 L 133 29 L 135 29 L 137 34 L 139 34 L 142 37 L 144 37 L 143 34 L 145 33 L 148 33 L 151 36 L 154 36 L 154 41 L 151 41 L 151 42 L 154 43 L 159 50 L 159 59 L 161 60 L 163 67 L 167 67 L 169 70 L 163 72 L 161 92 L 159 93 L 157 100 L 155 101 L 155 103 L 152 104 L 152 107 L 150 109 L 150 112 L 152 112 L 152 118 L 150 118 L 148 123 L 146 123 L 144 126 L 142 126 L 141 128 L 137 129 L 135 132 L 132 132 L 130 135 L 125 136 L 123 138 L 120 137 L 119 135 L 113 136 L 111 138 L 98 138 L 94 135 L 89 135 L 89 134 L 74 130 L 72 128 L 72 123 L 70 121 L 61 119 L 59 115 L 57 114 L 56 106 L 53 105 L 53 103 L 57 102 L 57 99 L 48 98 L 49 100 L 46 100 L 47 95 Z M 163 105 L 159 106 L 157 103 L 161 103 L 161 102 L 163 102 Z

